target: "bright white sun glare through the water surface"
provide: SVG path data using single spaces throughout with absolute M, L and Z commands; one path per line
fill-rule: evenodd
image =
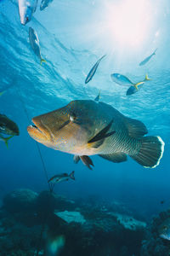
M 105 3 L 105 31 L 116 44 L 138 47 L 150 35 L 152 14 L 146 0 Z

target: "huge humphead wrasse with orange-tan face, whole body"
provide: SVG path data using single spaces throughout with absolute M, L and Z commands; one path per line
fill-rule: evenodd
M 89 155 L 98 154 L 119 163 L 127 154 L 144 167 L 154 168 L 161 160 L 161 137 L 144 137 L 145 125 L 130 119 L 104 102 L 72 101 L 64 108 L 32 119 L 30 136 L 49 148 L 76 155 L 86 166 Z

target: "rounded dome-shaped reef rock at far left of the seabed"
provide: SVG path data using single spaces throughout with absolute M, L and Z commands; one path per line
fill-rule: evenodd
M 16 189 L 3 199 L 3 207 L 8 212 L 23 212 L 35 207 L 37 193 L 31 189 Z

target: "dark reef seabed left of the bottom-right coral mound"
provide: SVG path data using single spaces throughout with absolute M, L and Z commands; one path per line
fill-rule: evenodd
M 71 201 L 49 191 L 37 195 L 17 189 L 4 197 L 0 211 L 0 252 L 46 256 L 48 241 L 59 247 L 57 237 L 63 237 L 60 256 L 139 256 L 145 225 L 121 204 Z

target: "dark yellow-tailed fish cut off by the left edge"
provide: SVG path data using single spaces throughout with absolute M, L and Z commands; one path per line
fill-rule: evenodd
M 9 137 L 6 137 L 8 136 Z M 18 125 L 14 123 L 5 114 L 0 113 L 0 140 L 8 147 L 8 140 L 14 136 L 19 136 L 20 131 Z

